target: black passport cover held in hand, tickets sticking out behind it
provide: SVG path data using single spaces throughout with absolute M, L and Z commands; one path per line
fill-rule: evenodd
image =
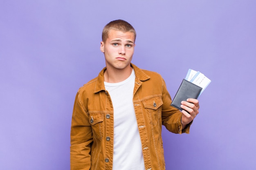
M 171 106 L 179 110 L 183 110 L 180 108 L 181 101 L 186 101 L 188 98 L 197 99 L 201 91 L 202 87 L 183 79 L 173 101 L 171 102 Z

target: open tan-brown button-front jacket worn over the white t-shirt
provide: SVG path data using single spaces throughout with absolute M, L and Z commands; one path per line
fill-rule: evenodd
M 181 130 L 182 114 L 170 106 L 171 97 L 161 75 L 131 66 L 136 76 L 133 104 L 145 170 L 165 170 L 162 125 L 173 133 L 189 133 L 190 124 Z M 112 170 L 114 112 L 104 86 L 104 71 L 106 68 L 76 95 L 71 126 L 71 170 Z

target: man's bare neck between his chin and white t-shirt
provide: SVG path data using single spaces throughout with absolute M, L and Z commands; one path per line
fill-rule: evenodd
M 129 66 L 124 69 L 108 68 L 104 72 L 104 82 L 119 83 L 126 80 L 132 73 L 132 67 Z

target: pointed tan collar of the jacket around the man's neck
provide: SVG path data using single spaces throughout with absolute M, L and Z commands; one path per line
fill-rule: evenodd
M 139 79 L 140 81 L 146 81 L 147 79 L 150 78 L 146 73 L 144 73 L 143 70 L 135 66 L 134 64 L 131 63 L 132 68 L 134 69 L 135 72 L 135 79 Z M 106 71 L 106 67 L 101 70 L 99 73 L 95 88 L 94 88 L 94 93 L 98 93 L 99 91 L 106 91 L 105 85 L 104 85 L 104 72 Z

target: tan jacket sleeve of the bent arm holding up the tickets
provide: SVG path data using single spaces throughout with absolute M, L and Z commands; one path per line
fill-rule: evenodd
M 177 108 L 171 106 L 171 96 L 167 91 L 164 79 L 162 79 L 162 101 L 162 124 L 166 129 L 173 133 L 189 133 L 192 122 L 182 130 L 182 113 Z

